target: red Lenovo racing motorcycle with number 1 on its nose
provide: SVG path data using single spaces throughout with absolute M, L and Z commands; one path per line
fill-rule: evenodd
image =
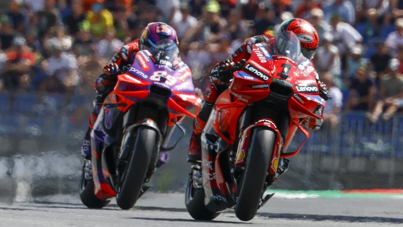
M 202 160 L 192 165 L 185 194 L 194 219 L 211 220 L 229 208 L 241 220 L 252 219 L 273 196 L 264 192 L 286 172 L 287 158 L 308 139 L 302 123 L 321 118 L 314 112 L 323 109 L 327 93 L 318 88 L 314 67 L 292 35 L 283 45 L 287 55 L 255 44 L 217 98 L 201 135 Z M 306 138 L 287 152 L 297 130 Z

